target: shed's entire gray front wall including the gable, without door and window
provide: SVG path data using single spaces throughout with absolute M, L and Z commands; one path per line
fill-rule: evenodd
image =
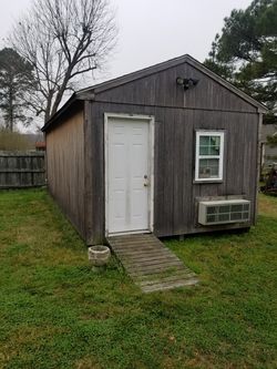
M 176 78 L 193 78 L 196 88 L 184 92 Z M 105 228 L 104 113 L 154 115 L 154 233 L 171 236 L 238 225 L 197 224 L 197 199 L 242 196 L 252 201 L 255 222 L 258 143 L 257 107 L 188 63 L 127 82 L 86 102 L 85 176 L 91 193 L 90 235 L 102 242 Z M 225 130 L 224 181 L 194 183 L 195 131 Z

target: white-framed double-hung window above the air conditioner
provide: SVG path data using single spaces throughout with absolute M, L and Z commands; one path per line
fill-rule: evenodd
M 197 131 L 195 181 L 223 180 L 224 132 Z

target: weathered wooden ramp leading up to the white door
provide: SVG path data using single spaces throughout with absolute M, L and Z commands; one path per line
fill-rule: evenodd
M 198 281 L 196 275 L 153 234 L 112 236 L 107 243 L 144 293 L 192 286 Z

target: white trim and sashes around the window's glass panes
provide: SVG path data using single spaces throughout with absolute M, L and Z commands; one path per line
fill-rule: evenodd
M 220 137 L 220 152 L 219 155 L 199 155 L 199 137 L 201 136 L 218 136 Z M 224 131 L 196 131 L 196 145 L 195 145 L 195 182 L 219 182 L 223 181 L 223 156 L 224 156 Z M 201 178 L 199 174 L 199 160 L 201 158 L 218 158 L 218 177 L 217 178 Z

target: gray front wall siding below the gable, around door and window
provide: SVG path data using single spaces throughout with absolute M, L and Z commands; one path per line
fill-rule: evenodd
M 197 225 L 196 199 L 207 196 L 244 196 L 252 199 L 255 219 L 257 114 L 196 111 L 94 102 L 91 104 L 93 237 L 104 237 L 104 113 L 155 116 L 154 233 L 170 236 L 234 228 L 234 225 Z M 223 183 L 194 183 L 195 130 L 225 130 Z

